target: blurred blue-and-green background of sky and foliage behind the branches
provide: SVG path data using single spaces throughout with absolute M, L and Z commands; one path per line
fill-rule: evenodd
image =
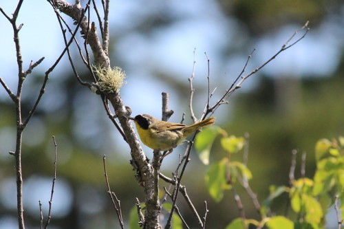
M 82 2 L 85 5 L 85 1 Z M 30 26 L 25 15 L 30 16 L 32 12 L 25 8 L 29 7 L 26 4 L 21 11 L 22 22 Z M 1 7 L 8 14 L 14 9 L 13 6 Z M 25 80 L 24 114 L 28 113 L 39 94 L 43 72 L 47 69 L 44 67 L 52 65 L 63 49 L 54 12 L 49 6 L 45 7 L 48 9 L 45 13 L 51 14 L 49 28 L 54 27 L 58 35 L 53 39 L 42 36 L 38 39 L 32 31 L 22 32 L 23 46 L 25 42 L 34 45 L 39 40 L 40 43 L 35 47 L 36 52 L 23 53 L 24 61 L 34 58 L 34 55 L 48 57 L 41 72 L 36 71 Z M 111 65 L 120 66 L 127 72 L 127 85 L 121 89 L 126 105 L 133 109 L 134 115 L 149 113 L 160 117 L 160 94 L 166 91 L 170 94 L 170 108 L 175 111 L 171 121 L 179 122 L 185 112 L 186 124 L 191 123 L 187 79 L 192 72 L 194 48 L 194 109 L 200 116 L 207 93 L 204 52 L 211 60 L 211 87 L 217 87 L 215 102 L 244 67 L 246 56 L 254 47 L 257 51 L 247 71 L 268 60 L 294 30 L 310 21 L 310 33 L 303 41 L 283 52 L 263 71 L 248 78 L 242 85 L 243 89 L 229 98 L 229 104 L 215 113 L 217 125 L 229 134 L 243 136 L 249 133 L 248 168 L 253 175 L 251 187 L 259 201 L 268 197 L 271 184 L 288 184 L 292 149 L 307 152 L 306 176 L 312 176 L 316 140 L 343 135 L 342 1 L 112 1 L 110 12 Z M 9 27 L 2 16 L 0 24 L 3 28 Z M 32 24 L 43 30 L 43 25 L 40 28 L 40 24 Z M 6 31 L 3 36 L 12 42 L 11 30 Z M 49 47 L 54 46 L 54 52 L 45 49 L 45 43 L 50 41 L 55 44 Z M 9 52 L 0 54 L 0 74 L 15 91 L 15 59 L 6 64 L 6 60 L 14 56 L 11 44 Z M 5 49 L 2 41 L 1 46 Z M 77 58 L 77 52 L 74 56 Z M 49 62 L 50 58 L 52 61 Z M 54 171 L 54 135 L 58 144 L 58 175 L 52 205 L 52 228 L 118 228 L 117 217 L 107 195 L 103 155 L 107 155 L 112 190 L 120 199 L 123 217 L 128 222 L 135 197 L 144 200 L 142 188 L 129 164 L 129 147 L 107 118 L 99 96 L 77 83 L 67 58 L 58 68 L 50 76 L 41 105 L 24 132 L 26 223 L 28 228 L 38 227 L 39 200 L 43 202 L 45 215 L 47 213 Z M 78 65 L 78 73 L 84 80 L 91 80 L 81 64 Z M 17 228 L 14 158 L 8 154 L 8 151 L 14 151 L 15 146 L 15 113 L 3 88 L 0 89 L 0 117 L 0 228 Z M 144 149 L 151 157 L 151 150 Z M 184 149 L 185 146 L 180 146 L 174 155 L 166 158 L 162 164 L 165 175 L 171 176 L 178 164 L 178 155 Z M 219 147 L 214 146 L 211 157 L 217 157 L 217 153 Z M 300 157 L 301 154 L 299 161 Z M 208 201 L 207 227 L 224 228 L 239 216 L 233 195 L 228 192 L 221 202 L 215 203 L 204 183 L 208 168 L 195 153 L 191 159 L 182 184 L 186 185 L 200 215 L 204 212 L 204 201 Z M 235 159 L 241 160 L 241 156 Z M 167 186 L 163 182 L 162 185 Z M 259 217 L 244 190 L 238 190 L 246 216 Z M 281 198 L 272 210 L 281 214 L 286 199 Z M 182 198 L 179 206 L 184 218 L 196 227 L 197 223 Z M 331 221 L 336 220 L 329 217 L 329 228 Z

